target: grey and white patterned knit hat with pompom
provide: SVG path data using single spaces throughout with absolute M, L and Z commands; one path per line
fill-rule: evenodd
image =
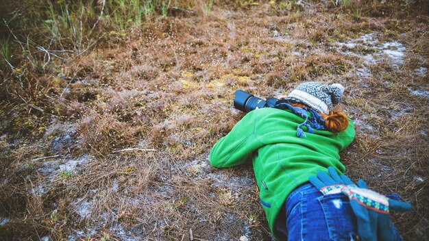
M 308 105 L 308 107 L 329 114 L 333 106 L 339 104 L 344 87 L 341 84 L 322 84 L 319 82 L 305 82 L 300 84 L 285 99 L 291 102 L 298 102 Z

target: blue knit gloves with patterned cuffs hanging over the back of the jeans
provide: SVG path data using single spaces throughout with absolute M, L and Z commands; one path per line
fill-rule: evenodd
M 309 181 L 323 193 L 323 195 L 343 193 L 350 199 L 350 205 L 357 218 L 358 235 L 360 240 L 393 240 L 394 230 L 390 220 L 389 210 L 409 212 L 411 204 L 389 199 L 378 192 L 367 189 L 362 179 L 358 186 L 345 175 L 339 176 L 335 169 L 328 168 L 330 176 L 319 171 L 317 177 L 310 177 Z

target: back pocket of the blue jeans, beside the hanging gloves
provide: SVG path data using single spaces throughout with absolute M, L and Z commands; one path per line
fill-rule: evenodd
M 317 199 L 323 210 L 330 240 L 351 240 L 357 226 L 347 196 L 339 193 Z

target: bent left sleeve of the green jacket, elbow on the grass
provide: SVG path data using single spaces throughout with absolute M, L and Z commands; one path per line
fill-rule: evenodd
M 210 151 L 210 164 L 223 168 L 245 163 L 263 145 L 256 134 L 256 125 L 258 110 L 246 114 L 227 136 L 217 141 Z

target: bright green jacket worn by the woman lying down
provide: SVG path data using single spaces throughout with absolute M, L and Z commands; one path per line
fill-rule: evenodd
M 310 116 L 310 112 L 307 114 Z M 253 110 L 210 151 L 210 164 L 217 168 L 237 166 L 252 157 L 260 203 L 271 233 L 281 240 L 285 237 L 275 230 L 275 225 L 286 197 L 319 170 L 327 172 L 333 166 L 338 173 L 344 173 L 339 151 L 352 142 L 355 134 L 349 121 L 347 129 L 340 133 L 315 130 L 310 134 L 303 127 L 306 138 L 298 138 L 297 126 L 303 121 L 290 110 Z M 284 225 L 284 221 L 279 224 Z

